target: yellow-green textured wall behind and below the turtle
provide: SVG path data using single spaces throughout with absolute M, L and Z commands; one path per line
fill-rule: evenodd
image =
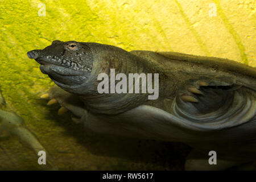
M 0 3 L 0 85 L 6 110 L 24 118 L 61 169 L 182 169 L 185 154 L 181 155 L 179 148 L 184 147 L 86 138 L 69 114 L 59 117 L 57 108 L 46 107 L 46 101 L 39 100 L 53 83 L 40 72 L 38 63 L 28 59 L 27 51 L 42 49 L 56 39 L 76 40 L 127 51 L 224 57 L 256 66 L 254 0 Z M 38 15 L 39 3 L 46 5 L 46 16 Z M 216 16 L 209 15 L 210 3 L 216 6 Z M 17 139 L 1 139 L 0 144 L 0 169 L 41 169 L 36 156 Z M 162 158 L 172 164 L 164 164 Z

